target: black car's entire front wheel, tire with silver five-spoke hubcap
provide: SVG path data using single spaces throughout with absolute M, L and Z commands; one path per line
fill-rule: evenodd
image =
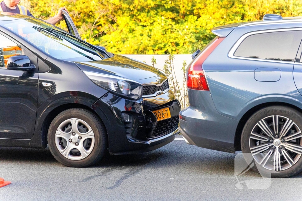
M 88 167 L 107 150 L 107 134 L 100 119 L 82 108 L 59 113 L 51 122 L 47 140 L 54 158 L 68 167 Z

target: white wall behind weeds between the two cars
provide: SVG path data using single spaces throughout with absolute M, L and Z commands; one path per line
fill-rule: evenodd
M 123 55 L 129 58 L 133 58 L 139 61 L 145 61 L 146 64 L 151 64 L 151 59 L 154 56 L 156 58 L 156 65 L 154 67 L 163 70 L 163 66 L 165 64 L 165 60 L 169 58 L 169 55 Z M 183 61 L 187 61 L 187 65 L 192 61 L 191 55 L 174 55 L 174 68 L 176 79 L 179 82 L 179 86 L 183 86 L 183 72 L 182 72 L 182 63 Z M 174 73 L 173 73 L 174 74 Z

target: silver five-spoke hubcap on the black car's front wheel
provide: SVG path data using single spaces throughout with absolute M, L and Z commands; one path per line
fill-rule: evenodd
M 68 159 L 86 158 L 95 144 L 91 127 L 81 119 L 67 119 L 56 130 L 56 147 Z

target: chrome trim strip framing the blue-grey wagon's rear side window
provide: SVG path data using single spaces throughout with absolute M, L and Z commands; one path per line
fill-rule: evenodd
M 239 45 L 246 39 L 248 36 L 259 34 L 259 33 L 272 33 L 272 32 L 283 32 L 283 31 L 301 31 L 302 28 L 290 28 L 290 29 L 275 29 L 275 30 L 262 30 L 262 31 L 254 31 L 250 33 L 246 33 L 235 43 L 235 45 L 231 48 L 228 57 L 236 58 L 236 59 L 245 59 L 245 60 L 252 60 L 252 61 L 266 61 L 266 62 L 274 62 L 274 63 L 283 63 L 283 64 L 294 64 L 294 61 L 274 61 L 274 60 L 267 60 L 267 59 L 257 59 L 257 58 L 247 58 L 247 57 L 238 57 L 235 56 L 235 52 L 238 49 Z

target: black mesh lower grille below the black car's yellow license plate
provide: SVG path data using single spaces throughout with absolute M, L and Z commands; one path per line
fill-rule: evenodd
M 148 138 L 154 139 L 172 133 L 178 127 L 179 116 L 165 119 L 157 122 L 157 126 L 151 136 Z

